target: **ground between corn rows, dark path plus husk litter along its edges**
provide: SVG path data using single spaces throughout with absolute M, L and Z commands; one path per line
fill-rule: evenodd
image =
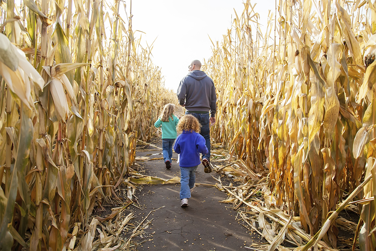
M 197 187 L 188 207 L 182 208 L 177 154 L 173 153 L 171 169 L 166 169 L 161 140 L 139 143 L 136 171 L 124 180 L 123 195 L 119 196 L 126 202 L 106 212 L 105 218 L 93 218 L 92 229 L 96 227 L 97 232 L 88 237 L 91 250 L 286 251 L 301 250 L 311 240 L 302 230 L 299 216 L 289 217 L 284 208 L 274 207 L 267 175 L 245 173 L 245 163 L 229 159 L 223 146 L 213 145 L 214 171 L 204 173 L 199 167 Z M 338 248 L 342 250 L 353 244 L 357 213 L 358 208 L 350 204 L 336 219 Z M 317 247 L 337 250 L 323 241 L 318 241 Z

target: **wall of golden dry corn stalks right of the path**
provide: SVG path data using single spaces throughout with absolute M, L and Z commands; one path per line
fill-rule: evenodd
M 229 144 L 247 179 L 267 167 L 275 206 L 313 236 L 343 191 L 376 178 L 376 4 L 276 1 L 263 37 L 255 6 L 245 6 L 206 62 L 218 91 L 212 137 Z M 374 202 L 361 210 L 355 239 L 374 250 Z M 323 239 L 335 247 L 337 232 L 332 221 Z

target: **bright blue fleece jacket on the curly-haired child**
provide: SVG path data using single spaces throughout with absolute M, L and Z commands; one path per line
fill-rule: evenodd
M 208 148 L 205 145 L 205 138 L 195 131 L 183 131 L 177 136 L 174 151 L 180 154 L 179 166 L 193 167 L 198 166 L 200 153 L 208 154 Z

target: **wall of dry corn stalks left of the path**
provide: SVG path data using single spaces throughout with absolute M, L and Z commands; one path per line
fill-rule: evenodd
M 176 96 L 119 1 L 0 4 L 0 249 L 91 249 L 90 214 Z

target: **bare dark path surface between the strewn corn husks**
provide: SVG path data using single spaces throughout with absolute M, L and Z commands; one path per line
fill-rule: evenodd
M 161 140 L 158 142 L 154 144 L 161 147 Z M 149 146 L 145 149 L 149 151 L 138 151 L 136 156 L 162 152 Z M 177 159 L 176 153 L 173 153 L 173 158 Z M 173 160 L 171 169 L 166 169 L 163 160 L 138 163 L 145 169 L 145 175 L 180 178 L 176 160 Z M 215 184 L 211 175 L 216 178 L 220 176 L 215 172 L 205 173 L 200 165 L 196 172 L 196 183 Z M 138 237 L 138 242 L 147 241 L 138 246 L 137 250 L 251 250 L 244 248 L 244 245 L 249 246 L 252 240 L 260 241 L 258 236 L 251 235 L 235 221 L 237 212 L 230 208 L 232 204 L 218 202 L 227 198 L 226 193 L 199 186 L 188 199 L 188 207 L 180 207 L 179 191 L 180 184 L 159 184 L 143 185 L 141 191 L 135 192 L 139 207 L 143 209 L 131 207 L 135 215 L 140 216 L 136 221 L 141 221 L 150 211 L 164 206 L 148 217 L 148 220 L 153 220 L 146 230 L 146 237 Z

